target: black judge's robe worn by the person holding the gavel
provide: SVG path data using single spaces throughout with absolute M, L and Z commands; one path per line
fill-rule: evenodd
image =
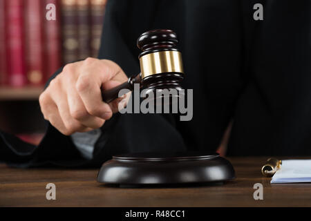
M 263 4 L 263 21 L 253 19 L 255 3 Z M 216 151 L 231 119 L 227 155 L 311 155 L 309 0 L 108 1 L 99 58 L 115 61 L 126 75 L 139 73 L 136 39 L 156 28 L 180 39 L 182 86 L 194 89 L 191 121 L 115 114 L 93 160 L 50 124 L 37 147 L 0 133 L 0 160 L 99 166 L 117 153 Z

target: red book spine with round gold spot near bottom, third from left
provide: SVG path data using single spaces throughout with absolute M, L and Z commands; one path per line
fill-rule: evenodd
M 41 0 L 24 0 L 26 70 L 28 84 L 41 85 L 44 80 L 43 12 Z

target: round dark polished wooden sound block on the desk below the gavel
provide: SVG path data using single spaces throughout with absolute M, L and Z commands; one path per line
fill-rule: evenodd
M 140 187 L 222 183 L 234 177 L 232 164 L 218 153 L 129 153 L 105 162 L 97 182 Z

